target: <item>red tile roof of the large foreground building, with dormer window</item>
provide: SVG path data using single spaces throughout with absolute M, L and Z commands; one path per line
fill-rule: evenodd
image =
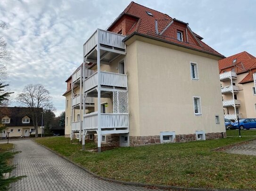
M 150 12 L 153 16 L 148 15 L 147 11 Z M 127 36 L 125 39 L 130 38 L 133 34 L 139 34 L 149 38 L 158 38 L 159 40 L 198 50 L 200 52 L 210 53 L 222 58 L 224 57 L 222 54 L 218 53 L 213 48 L 202 42 L 201 39 L 203 38 L 192 32 L 188 27 L 188 23 L 181 22 L 175 18 L 170 17 L 169 15 L 151 8 L 144 7 L 133 1 L 128 5 L 127 8 L 124 9 L 124 12 L 117 17 L 116 21 L 114 21 L 114 23 L 112 23 L 107 30 L 112 31 L 113 26 L 123 15 L 130 15 L 134 18 L 137 18 L 136 23 L 129 30 L 129 32 L 125 34 Z M 170 23 L 171 25 L 168 26 Z M 163 31 L 165 28 L 166 30 Z M 157 30 L 159 32 L 158 34 Z M 177 30 L 183 32 L 183 42 L 177 39 Z M 160 35 L 161 32 L 163 32 L 163 34 Z

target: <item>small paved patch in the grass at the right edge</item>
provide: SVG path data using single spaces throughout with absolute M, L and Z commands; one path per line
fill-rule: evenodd
M 250 141 L 247 144 L 235 145 L 225 152 L 233 154 L 247 154 L 256 156 L 256 140 Z

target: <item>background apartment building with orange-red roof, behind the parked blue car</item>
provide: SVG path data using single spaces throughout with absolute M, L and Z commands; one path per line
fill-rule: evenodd
M 223 112 L 226 119 L 256 118 L 256 57 L 242 52 L 219 61 Z

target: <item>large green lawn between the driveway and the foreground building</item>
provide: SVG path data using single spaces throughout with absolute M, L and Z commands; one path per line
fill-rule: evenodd
M 122 147 L 91 153 L 69 138 L 37 138 L 36 142 L 68 157 L 99 176 L 181 187 L 256 190 L 256 157 L 211 151 L 249 137 L 189 143 Z M 94 148 L 86 143 L 86 148 Z

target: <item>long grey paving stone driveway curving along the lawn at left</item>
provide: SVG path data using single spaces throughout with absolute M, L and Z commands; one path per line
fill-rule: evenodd
M 160 191 L 99 180 L 33 141 L 17 140 L 14 176 L 27 177 L 13 183 L 10 191 Z

